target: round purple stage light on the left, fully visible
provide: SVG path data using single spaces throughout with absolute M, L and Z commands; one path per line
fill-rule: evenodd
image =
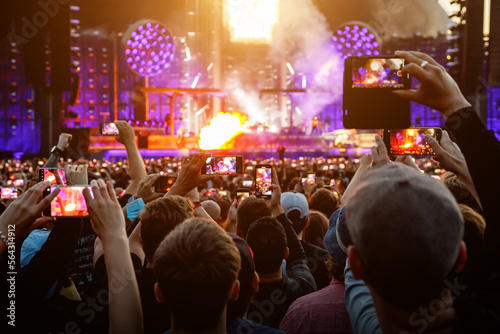
M 130 33 L 125 44 L 130 69 L 146 77 L 167 69 L 175 51 L 172 34 L 167 27 L 157 22 L 142 22 Z

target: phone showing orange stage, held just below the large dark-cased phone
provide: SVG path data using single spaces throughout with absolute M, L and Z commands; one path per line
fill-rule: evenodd
M 390 155 L 434 155 L 434 150 L 425 140 L 425 135 L 427 134 L 439 142 L 443 131 L 441 128 L 384 130 L 384 142 Z

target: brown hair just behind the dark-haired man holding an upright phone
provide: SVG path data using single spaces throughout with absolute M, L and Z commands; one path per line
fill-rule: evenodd
M 247 197 L 238 205 L 236 219 L 238 220 L 238 236 L 246 239 L 250 224 L 259 218 L 271 216 L 271 210 L 262 198 Z M 240 235 L 241 234 L 241 235 Z

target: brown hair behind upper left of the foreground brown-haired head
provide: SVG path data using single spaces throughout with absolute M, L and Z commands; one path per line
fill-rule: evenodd
M 165 196 L 149 202 L 139 214 L 141 243 L 149 263 L 160 242 L 187 218 L 194 217 L 191 202 L 182 196 Z

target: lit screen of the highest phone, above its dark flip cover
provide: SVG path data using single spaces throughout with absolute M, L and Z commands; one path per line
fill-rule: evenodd
M 402 58 L 354 58 L 352 88 L 405 88 Z

